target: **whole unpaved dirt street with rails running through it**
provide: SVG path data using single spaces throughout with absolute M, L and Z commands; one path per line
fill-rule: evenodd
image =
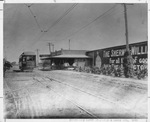
M 147 81 L 75 71 L 7 71 L 6 118 L 147 118 Z

